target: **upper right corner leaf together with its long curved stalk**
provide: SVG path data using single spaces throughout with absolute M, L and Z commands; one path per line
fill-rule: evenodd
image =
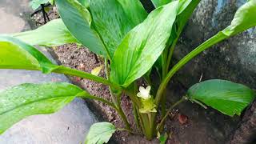
M 182 60 L 180 60 L 175 66 L 173 66 L 173 68 L 168 72 L 166 78 L 163 80 L 164 82 L 162 83 L 161 89 L 163 87 L 166 87 L 167 83 L 170 81 L 170 78 L 172 78 L 174 74 L 182 68 L 182 66 L 186 65 L 187 62 L 190 62 L 192 58 L 200 54 L 202 51 L 209 49 L 210 46 L 213 46 L 214 44 L 221 42 L 226 38 L 230 38 L 234 34 L 241 33 L 243 30 L 256 26 L 256 19 L 254 18 L 256 14 L 255 7 L 255 0 L 250 0 L 249 2 L 246 2 L 246 4 L 241 6 L 234 15 L 234 20 L 231 22 L 230 26 L 218 32 L 218 34 L 215 34 L 206 42 L 203 42 L 200 46 L 192 50 L 190 54 L 187 54 L 184 58 L 182 58 Z M 158 95 L 162 94 L 159 93 Z M 159 100 L 160 97 L 158 98 L 157 104 Z

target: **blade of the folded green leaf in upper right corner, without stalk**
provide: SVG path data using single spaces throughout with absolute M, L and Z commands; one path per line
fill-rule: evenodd
M 234 34 L 241 33 L 251 27 L 256 26 L 256 1 L 250 0 L 241 6 L 234 15 L 230 26 L 225 30 L 222 30 L 223 34 L 227 36 L 233 36 Z

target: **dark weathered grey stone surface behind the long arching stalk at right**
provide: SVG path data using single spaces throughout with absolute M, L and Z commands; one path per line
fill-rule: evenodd
M 230 25 L 235 11 L 246 0 L 202 0 L 188 22 L 174 57 L 183 58 L 202 42 Z M 222 78 L 256 87 L 256 29 L 246 30 L 204 51 L 189 62 L 178 78 L 189 87 L 203 80 Z

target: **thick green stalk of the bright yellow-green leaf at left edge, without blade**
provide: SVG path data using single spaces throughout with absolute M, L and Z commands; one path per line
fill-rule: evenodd
M 86 78 L 86 79 L 92 80 L 94 82 L 100 82 L 102 84 L 112 86 L 115 89 L 122 90 L 122 88 L 120 86 L 110 82 L 106 78 L 98 77 L 93 74 L 89 74 L 84 71 L 81 71 L 81 70 L 75 70 L 75 69 L 71 69 L 69 67 L 61 66 L 58 69 L 53 70 L 53 72 L 58 73 L 58 74 L 67 74 L 67 75 L 76 76 L 76 77 L 80 77 L 80 78 Z

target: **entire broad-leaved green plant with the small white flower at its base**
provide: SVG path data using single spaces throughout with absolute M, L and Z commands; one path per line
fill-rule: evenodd
M 120 104 L 123 94 L 128 95 L 133 103 L 135 122 L 149 140 L 157 134 L 164 134 L 162 127 L 167 115 L 181 102 L 196 102 L 234 116 L 240 115 L 254 100 L 255 92 L 249 87 L 214 79 L 191 86 L 186 96 L 166 108 L 166 86 L 182 66 L 214 44 L 256 26 L 256 0 L 241 6 L 230 26 L 203 42 L 174 66 L 170 66 L 174 48 L 200 0 L 152 0 L 156 9 L 150 14 L 138 0 L 54 2 L 61 18 L 37 30 L 0 36 L 0 68 L 41 70 L 44 74 L 68 74 L 101 82 L 110 86 L 112 101 L 93 96 L 68 83 L 14 86 L 0 92 L 0 134 L 22 118 L 54 113 L 76 97 L 105 102 L 126 124 L 124 129 L 109 122 L 96 123 L 91 126 L 86 143 L 108 142 L 116 130 L 132 132 Z M 54 65 L 34 48 L 34 45 L 60 46 L 66 43 L 82 44 L 105 58 L 107 78 Z M 157 71 L 160 85 L 151 81 L 152 71 Z M 138 78 L 144 78 L 146 88 L 138 86 Z M 161 122 L 157 123 L 160 112 Z

